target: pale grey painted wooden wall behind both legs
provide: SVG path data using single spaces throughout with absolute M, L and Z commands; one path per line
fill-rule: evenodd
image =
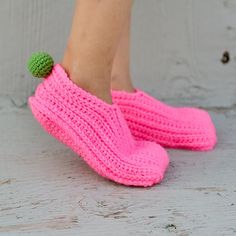
M 26 60 L 63 54 L 73 0 L 0 0 L 0 105 L 22 106 L 38 80 Z M 236 1 L 136 0 L 132 74 L 136 85 L 174 104 L 236 104 Z M 224 51 L 230 54 L 222 64 Z

